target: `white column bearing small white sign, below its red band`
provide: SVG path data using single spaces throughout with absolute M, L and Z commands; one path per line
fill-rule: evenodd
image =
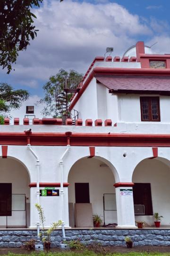
M 115 190 L 118 227 L 136 227 L 132 187 L 117 187 Z

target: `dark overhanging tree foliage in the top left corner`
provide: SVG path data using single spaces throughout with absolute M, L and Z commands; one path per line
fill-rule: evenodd
M 26 50 L 30 39 L 37 35 L 33 25 L 36 18 L 33 6 L 40 7 L 43 0 L 0 0 L 0 65 L 11 71 L 18 52 Z

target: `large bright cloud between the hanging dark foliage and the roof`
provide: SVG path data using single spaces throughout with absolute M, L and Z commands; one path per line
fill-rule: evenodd
M 107 46 L 122 54 L 136 43 L 137 35 L 152 31 L 137 15 L 116 3 L 87 3 L 64 0 L 44 1 L 35 26 L 38 35 L 26 51 L 19 54 L 14 81 L 36 88 L 36 80 L 47 81 L 60 68 L 85 73 L 96 55 L 104 55 Z

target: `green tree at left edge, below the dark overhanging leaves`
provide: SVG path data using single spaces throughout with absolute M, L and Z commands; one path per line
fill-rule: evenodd
M 0 115 L 4 116 L 11 109 L 19 109 L 28 97 L 28 91 L 14 90 L 8 83 L 0 83 Z

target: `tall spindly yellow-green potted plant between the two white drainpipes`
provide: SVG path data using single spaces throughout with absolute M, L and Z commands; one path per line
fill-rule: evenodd
M 44 249 L 48 250 L 51 247 L 51 233 L 54 231 L 54 229 L 57 229 L 59 226 L 61 226 L 62 221 L 59 220 L 57 222 L 53 222 L 50 229 L 45 230 L 44 224 L 45 224 L 45 216 L 42 209 L 42 206 L 38 203 L 35 204 L 36 209 L 38 210 L 38 214 L 40 216 L 40 220 L 42 223 L 42 231 L 40 232 L 40 238 L 43 242 Z

